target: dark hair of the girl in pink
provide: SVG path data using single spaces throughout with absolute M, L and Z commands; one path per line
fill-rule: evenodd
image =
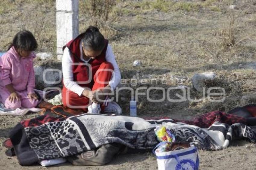
M 13 40 L 12 43 L 9 44 L 8 50 L 14 46 L 15 49 L 21 49 L 25 51 L 34 51 L 36 50 L 38 44 L 36 42 L 35 37 L 30 31 L 23 30 L 18 32 Z

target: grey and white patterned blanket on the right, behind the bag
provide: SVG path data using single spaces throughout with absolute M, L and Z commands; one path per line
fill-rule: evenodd
M 171 119 L 149 121 L 166 126 L 175 136 L 175 141 L 186 141 L 203 150 L 222 150 L 229 146 L 232 139 L 248 138 L 251 142 L 256 142 L 256 127 L 251 128 L 242 123 L 229 126 L 215 121 L 209 128 L 200 128 Z

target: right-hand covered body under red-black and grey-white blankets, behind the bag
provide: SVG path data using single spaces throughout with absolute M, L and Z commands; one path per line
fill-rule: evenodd
M 238 116 L 244 115 L 241 108 L 247 110 L 246 117 Z M 152 124 L 165 124 L 174 134 L 176 141 L 190 142 L 199 149 L 221 150 L 228 147 L 232 139 L 244 137 L 256 142 L 256 106 L 247 105 L 241 108 L 229 111 L 230 114 L 212 111 L 193 120 L 173 120 L 167 117 L 147 120 Z

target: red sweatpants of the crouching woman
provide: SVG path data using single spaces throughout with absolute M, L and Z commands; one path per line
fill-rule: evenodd
M 99 71 L 98 74 L 95 74 L 98 69 L 106 69 Z M 108 69 L 108 70 L 107 70 Z M 109 71 L 112 70 L 112 71 Z M 92 67 L 92 77 L 93 82 L 85 85 L 89 87 L 92 91 L 97 89 L 102 89 L 108 85 L 108 81 L 111 80 L 112 72 L 114 68 L 110 62 L 103 62 L 101 65 Z M 104 83 L 105 82 L 105 83 Z M 83 84 L 84 85 L 84 84 Z M 82 109 L 83 111 L 88 111 L 89 99 L 85 96 L 78 96 L 78 94 L 68 90 L 65 86 L 62 89 L 62 102 L 64 107 L 71 109 Z

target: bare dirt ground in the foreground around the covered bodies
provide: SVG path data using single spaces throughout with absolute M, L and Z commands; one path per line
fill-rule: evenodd
M 16 157 L 5 156 L 5 147 L 2 146 L 2 142 L 7 138 L 8 132 L 11 127 L 18 121 L 35 117 L 36 114 L 27 114 L 26 116 L 1 116 L 1 131 L 0 131 L 0 169 L 8 170 L 27 170 L 27 169 L 52 169 L 52 170 L 80 170 L 80 169 L 125 169 L 125 170 L 155 170 L 157 168 L 157 160 L 152 153 L 144 154 L 123 154 L 118 155 L 109 164 L 104 166 L 73 166 L 70 163 L 63 163 L 51 167 L 42 167 L 39 164 L 33 166 L 20 166 Z M 176 117 L 174 117 L 176 118 Z M 179 118 L 179 117 L 177 117 Z M 232 141 L 230 146 L 220 151 L 205 151 L 198 150 L 200 168 L 207 170 L 226 170 L 227 167 L 230 170 L 254 170 L 256 167 L 256 145 L 250 141 L 237 140 Z

